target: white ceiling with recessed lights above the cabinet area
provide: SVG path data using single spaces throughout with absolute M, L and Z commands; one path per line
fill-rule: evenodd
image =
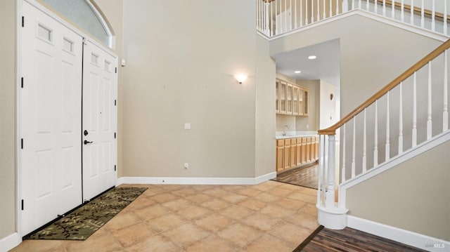
M 316 55 L 309 60 L 309 55 Z M 294 51 L 272 55 L 276 60 L 276 72 L 293 79 L 321 79 L 328 84 L 339 86 L 340 48 L 339 39 L 299 48 Z M 295 74 L 295 70 L 302 71 Z

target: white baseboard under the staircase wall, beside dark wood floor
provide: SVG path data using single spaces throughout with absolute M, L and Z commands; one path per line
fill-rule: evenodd
M 355 230 L 375 234 L 379 237 L 398 241 L 402 244 L 421 248 L 426 251 L 444 252 L 449 251 L 450 248 L 449 241 L 428 237 L 408 230 L 401 230 L 398 227 L 375 223 L 371 220 L 358 218 L 352 215 L 347 215 L 347 227 L 352 227 Z

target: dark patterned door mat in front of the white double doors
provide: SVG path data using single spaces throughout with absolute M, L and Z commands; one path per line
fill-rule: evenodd
M 116 187 L 23 239 L 85 240 L 128 206 L 146 187 Z

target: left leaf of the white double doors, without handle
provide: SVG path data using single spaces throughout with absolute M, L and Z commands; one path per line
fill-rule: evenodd
M 82 37 L 23 1 L 21 232 L 82 204 Z

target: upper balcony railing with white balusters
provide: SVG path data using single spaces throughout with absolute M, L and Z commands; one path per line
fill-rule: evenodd
M 257 0 L 257 30 L 274 37 L 353 10 L 449 36 L 450 0 Z

